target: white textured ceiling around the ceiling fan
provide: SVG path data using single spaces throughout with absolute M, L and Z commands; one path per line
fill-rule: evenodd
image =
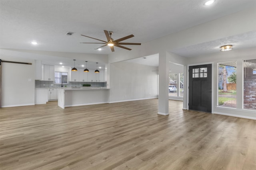
M 146 43 L 256 6 L 255 0 L 1 0 L 0 48 L 75 53 L 110 54 L 109 47 L 80 42 L 99 42 L 80 34 L 106 40 L 103 30 L 114 31 L 113 39 L 133 34 L 124 42 Z M 74 35 L 68 36 L 68 31 Z M 251 33 L 255 36 L 255 33 Z M 245 42 L 248 37 L 239 40 Z M 31 45 L 37 41 L 38 45 Z M 255 42 L 254 39 L 248 43 Z M 206 42 L 205 46 L 214 42 Z M 216 47 L 220 40 L 216 40 Z M 132 48 L 133 46 L 126 45 Z M 198 55 L 200 45 L 176 49 L 186 57 Z M 212 49 L 205 48 L 205 53 Z M 115 47 L 115 51 L 125 50 Z

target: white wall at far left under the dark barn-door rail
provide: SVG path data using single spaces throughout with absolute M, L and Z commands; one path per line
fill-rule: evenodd
M 1 56 L 4 61 L 32 63 L 2 63 L 2 107 L 34 105 L 34 60 Z

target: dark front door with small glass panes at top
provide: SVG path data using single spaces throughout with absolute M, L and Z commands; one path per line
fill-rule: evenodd
M 189 66 L 189 109 L 212 112 L 212 64 Z

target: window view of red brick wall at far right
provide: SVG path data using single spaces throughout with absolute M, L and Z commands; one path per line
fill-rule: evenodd
M 244 60 L 244 109 L 256 110 L 256 59 Z

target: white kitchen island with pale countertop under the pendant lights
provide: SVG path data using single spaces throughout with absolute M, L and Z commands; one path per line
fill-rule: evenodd
M 58 106 L 84 106 L 108 103 L 109 89 L 105 87 L 61 88 L 58 91 Z

